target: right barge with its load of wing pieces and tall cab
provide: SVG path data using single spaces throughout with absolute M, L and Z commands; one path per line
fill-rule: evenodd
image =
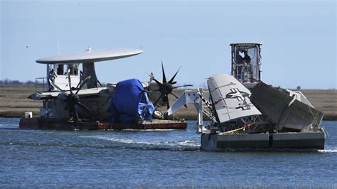
M 194 104 L 201 149 L 324 148 L 323 113 L 299 91 L 261 80 L 261 44 L 233 43 L 232 75 L 208 78 L 208 90 L 186 90 L 168 110 Z M 203 125 L 203 115 L 210 119 Z

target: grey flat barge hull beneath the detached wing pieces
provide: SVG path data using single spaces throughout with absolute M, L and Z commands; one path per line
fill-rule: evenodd
M 201 149 L 220 151 L 227 148 L 323 149 L 323 132 L 275 134 L 202 134 Z

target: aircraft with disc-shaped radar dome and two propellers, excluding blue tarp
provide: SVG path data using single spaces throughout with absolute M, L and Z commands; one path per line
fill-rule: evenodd
M 139 55 L 139 49 L 91 50 L 66 55 L 56 55 L 36 60 L 36 63 L 46 65 L 46 77 L 41 80 L 42 91 L 30 95 L 28 98 L 43 100 L 41 117 L 50 117 L 59 120 L 109 121 L 111 112 L 108 111 L 117 83 L 102 86 L 97 79 L 95 63 L 127 58 Z M 81 66 L 82 65 L 82 69 Z M 163 80 L 159 82 L 150 75 L 149 82 L 141 82 L 142 87 L 149 91 L 149 97 L 155 106 L 166 105 L 169 109 L 169 95 L 173 89 L 191 85 L 173 87 L 178 71 L 170 80 L 166 80 L 164 65 L 162 66 Z M 36 83 L 38 87 L 38 82 Z M 176 97 L 178 98 L 178 97 Z M 163 118 L 162 113 L 156 110 L 155 116 Z

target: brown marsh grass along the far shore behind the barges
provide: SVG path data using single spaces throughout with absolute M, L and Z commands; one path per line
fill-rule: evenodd
M 35 92 L 35 85 L 0 85 L 0 117 L 23 117 L 24 112 L 38 116 L 42 101 L 27 97 Z M 174 92 L 178 97 L 183 90 Z M 337 90 L 301 90 L 317 109 L 324 113 L 325 120 L 337 120 Z M 176 100 L 169 95 L 170 104 Z M 165 112 L 166 107 L 161 107 Z M 175 119 L 196 119 L 196 108 L 188 105 L 174 114 Z

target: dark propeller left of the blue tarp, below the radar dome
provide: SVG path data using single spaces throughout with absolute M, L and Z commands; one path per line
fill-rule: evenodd
M 51 80 L 49 80 L 49 82 L 50 82 L 50 85 L 52 85 L 55 89 L 59 90 L 63 95 L 67 97 L 66 102 L 68 103 L 70 114 L 73 115 L 74 127 L 76 128 L 77 120 L 79 119 L 76 107 L 81 107 L 82 109 L 85 109 L 85 111 L 88 112 L 90 115 L 93 115 L 93 112 L 88 107 L 86 107 L 85 104 L 82 104 L 80 102 L 80 97 L 77 95 L 78 92 L 80 92 L 82 87 L 85 85 L 85 83 L 88 80 L 90 80 L 91 76 L 88 76 L 85 78 L 85 80 L 80 81 L 80 83 L 77 85 L 79 87 L 77 87 L 77 91 L 75 93 L 73 92 L 72 87 L 71 87 L 70 69 L 68 69 L 66 78 L 68 79 L 68 86 L 69 86 L 70 94 L 65 92 L 65 90 L 62 90 L 60 87 L 58 87 L 58 85 L 55 85 L 55 83 L 53 83 Z

